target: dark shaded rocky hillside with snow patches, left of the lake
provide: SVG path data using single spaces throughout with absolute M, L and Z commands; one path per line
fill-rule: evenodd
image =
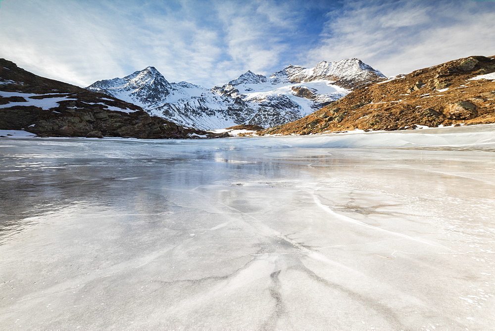
M 48 137 L 217 137 L 150 116 L 141 107 L 37 76 L 0 59 L 0 129 Z

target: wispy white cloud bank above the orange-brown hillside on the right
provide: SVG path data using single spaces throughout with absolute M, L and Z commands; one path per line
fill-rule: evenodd
M 351 1 L 329 14 L 311 61 L 359 57 L 386 75 L 494 55 L 494 8 L 482 1 Z

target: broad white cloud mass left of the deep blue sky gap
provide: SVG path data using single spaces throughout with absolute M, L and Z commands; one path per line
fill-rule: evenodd
M 80 86 L 153 65 L 211 87 L 276 67 L 291 21 L 287 4 L 261 0 L 2 1 L 0 56 Z

